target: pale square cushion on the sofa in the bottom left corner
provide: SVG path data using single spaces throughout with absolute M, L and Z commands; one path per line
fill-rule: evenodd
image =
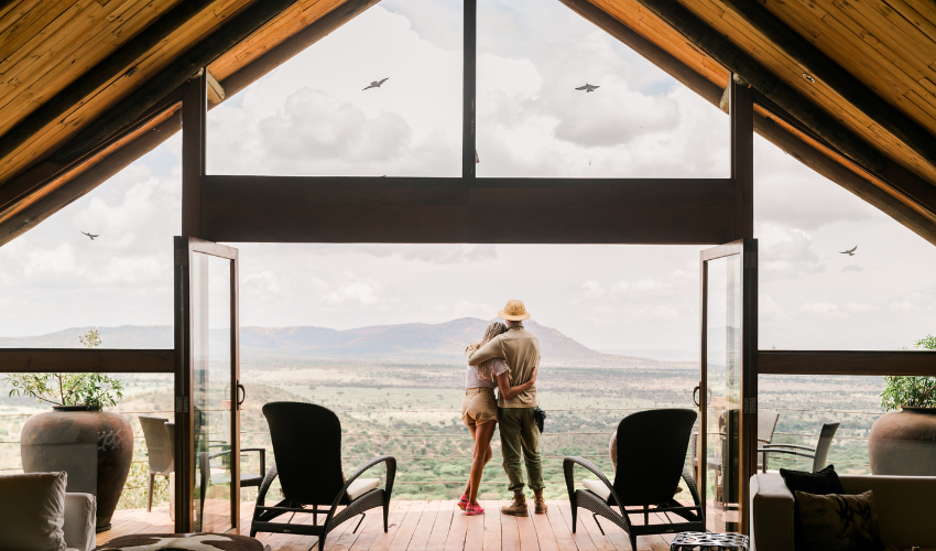
M 68 475 L 0 476 L 0 551 L 65 551 Z

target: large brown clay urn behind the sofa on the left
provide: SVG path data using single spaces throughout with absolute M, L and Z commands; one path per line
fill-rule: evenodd
M 133 428 L 118 413 L 56 406 L 31 417 L 20 435 L 23 471 L 68 473 L 66 491 L 97 496 L 97 531 L 110 529 L 133 458 Z

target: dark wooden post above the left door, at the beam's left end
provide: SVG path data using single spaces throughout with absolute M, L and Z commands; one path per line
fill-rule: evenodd
M 207 72 L 185 83 L 182 98 L 182 235 L 202 237 L 202 176 L 208 119 Z

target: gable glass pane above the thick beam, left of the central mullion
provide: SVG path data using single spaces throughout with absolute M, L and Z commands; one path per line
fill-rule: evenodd
M 461 21 L 461 2 L 368 9 L 208 114 L 208 172 L 460 176 Z

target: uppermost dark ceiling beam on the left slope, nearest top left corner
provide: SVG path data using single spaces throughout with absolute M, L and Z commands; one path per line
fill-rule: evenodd
M 95 65 L 65 89 L 42 104 L 17 126 L 0 137 L 0 159 L 6 158 L 51 125 L 79 106 L 104 86 L 124 77 L 142 76 L 133 72 L 139 60 L 157 47 L 172 33 L 187 23 L 193 17 L 209 8 L 216 0 L 192 0 L 178 3 L 165 15 L 157 19 L 143 32 L 120 46 L 113 54 Z

